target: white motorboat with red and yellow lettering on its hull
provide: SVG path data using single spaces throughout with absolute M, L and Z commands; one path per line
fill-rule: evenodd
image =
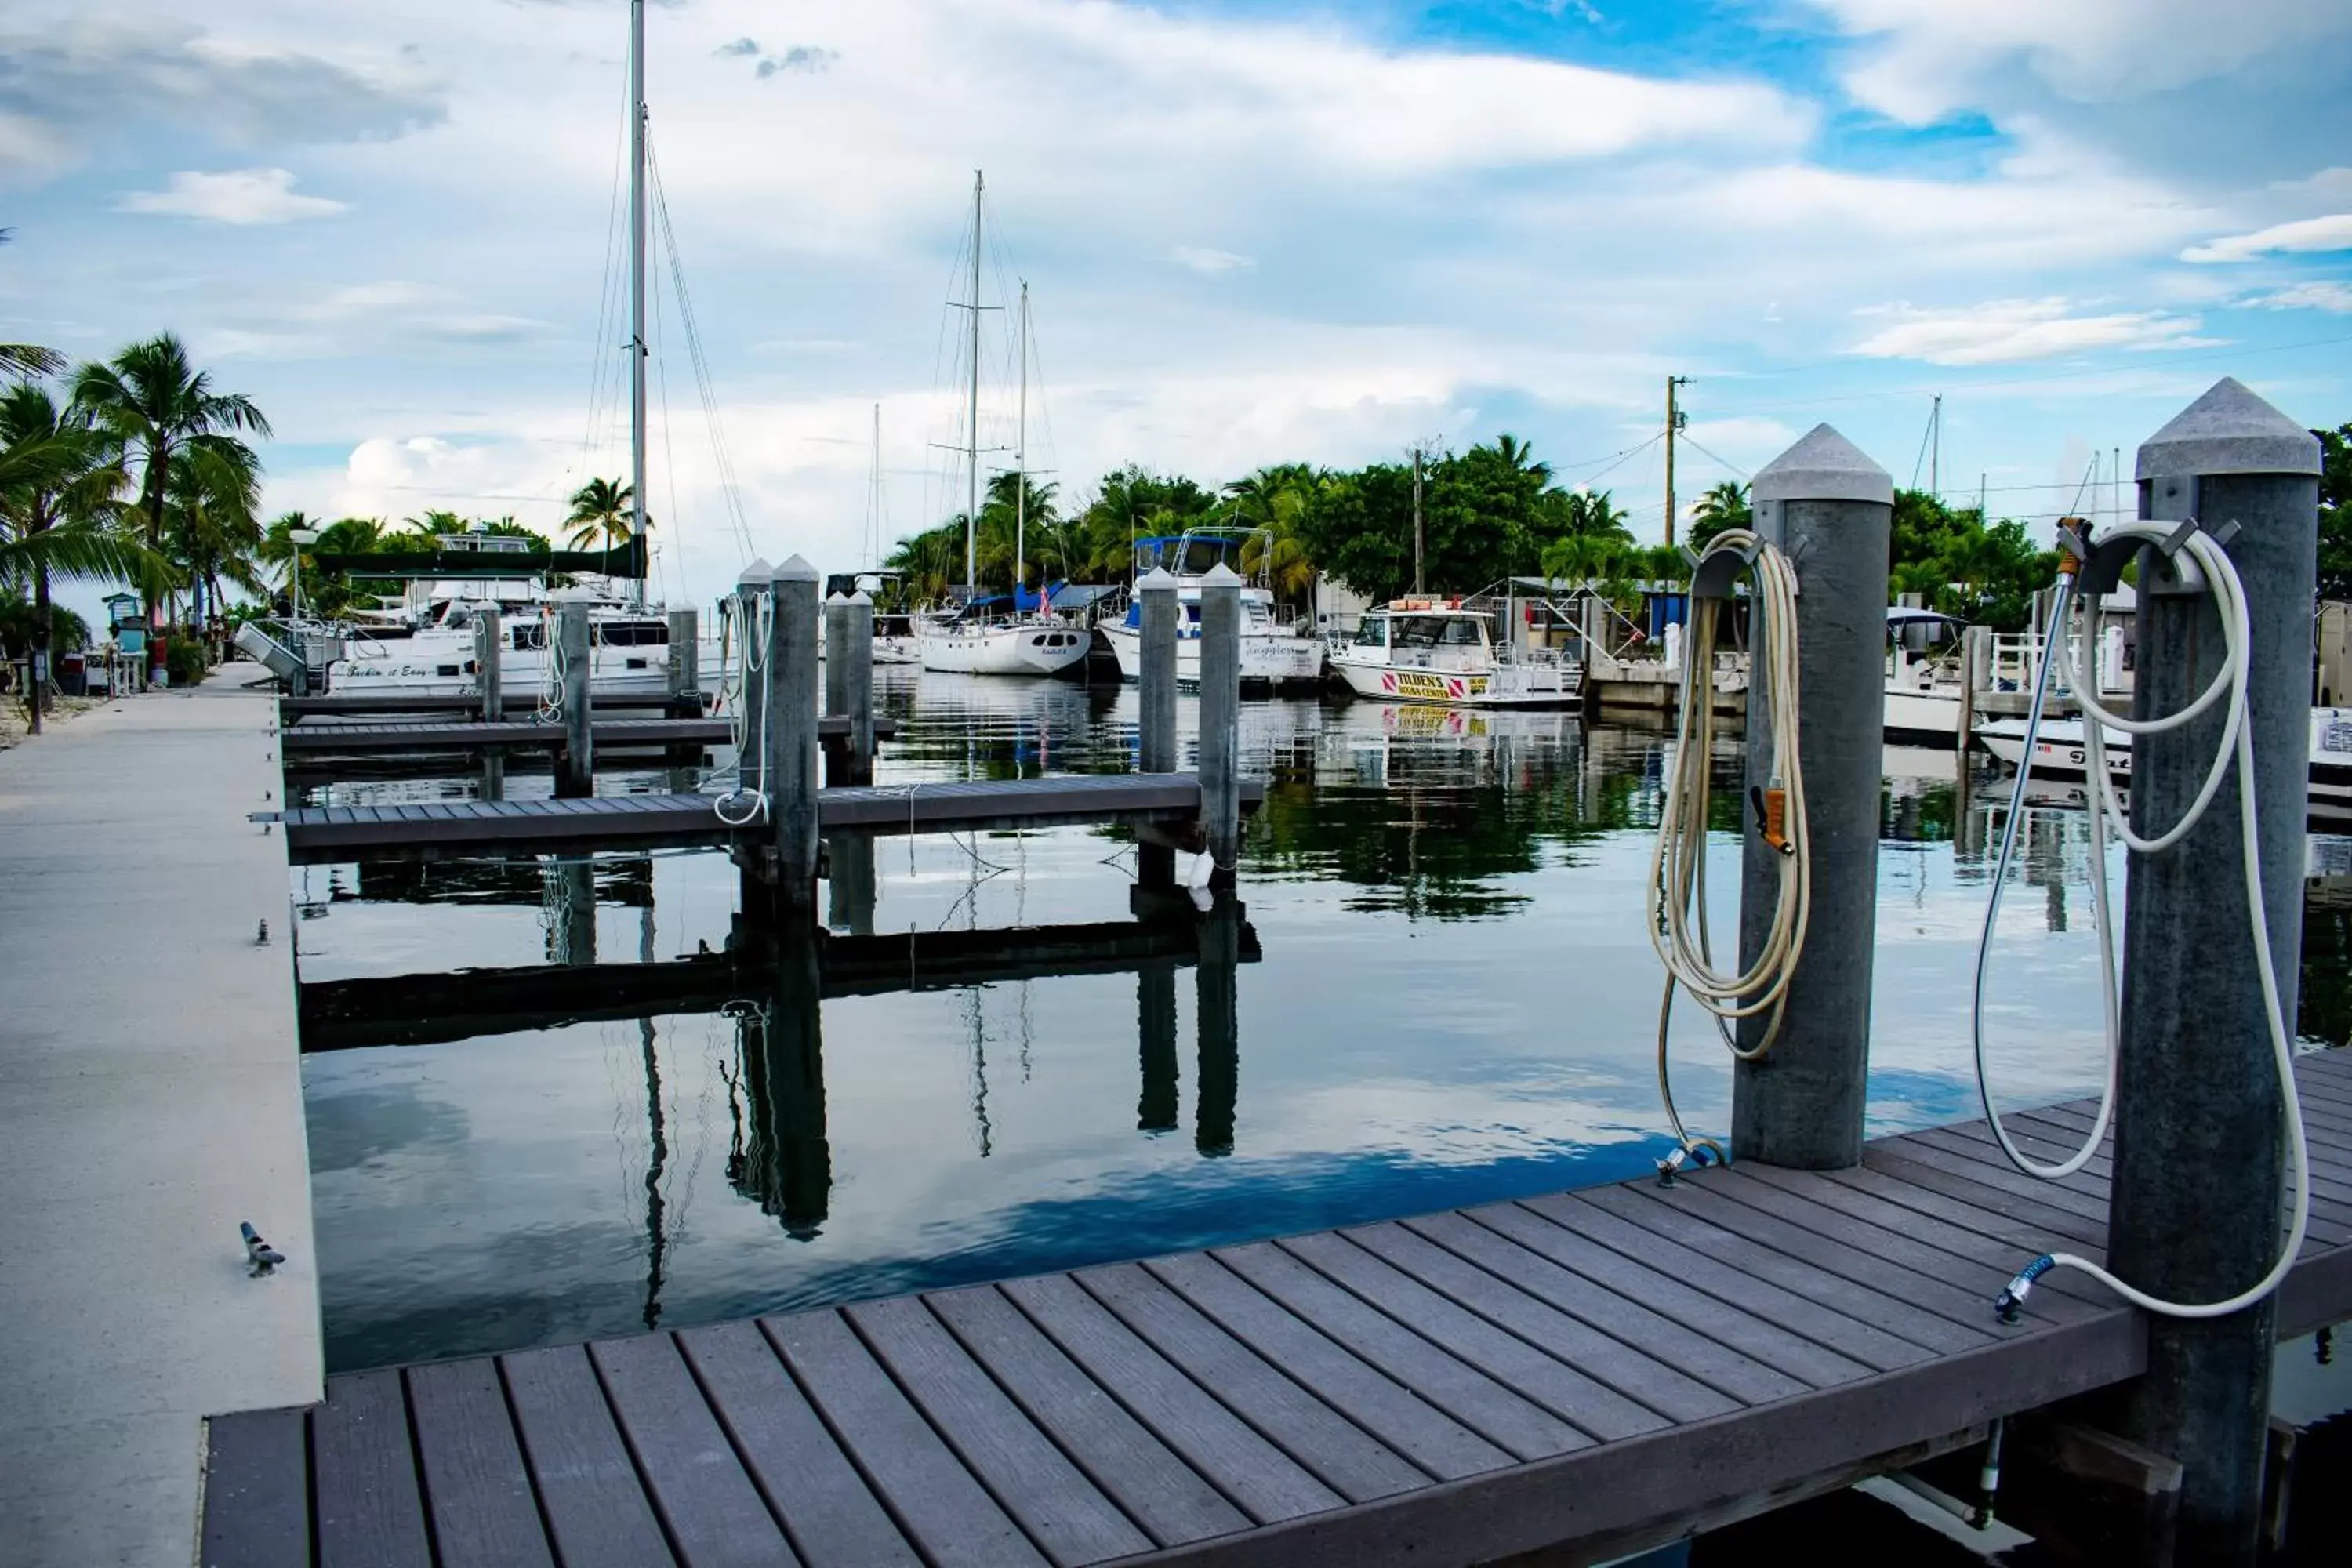
M 1573 708 L 1583 665 L 1552 649 L 1498 646 L 1482 609 L 1461 599 L 1390 599 L 1364 611 L 1331 668 L 1357 696 L 1456 708 Z

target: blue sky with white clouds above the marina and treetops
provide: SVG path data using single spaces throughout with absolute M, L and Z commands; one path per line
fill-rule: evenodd
M 2051 517 L 2220 374 L 2352 418 L 2340 0 L 680 0 L 654 141 L 663 588 L 953 503 L 974 167 L 1028 277 L 1033 463 L 1225 480 L 1512 430 L 1663 522 L 1828 418 Z M 268 503 L 550 527 L 621 473 L 621 0 L 16 0 L 0 336 L 183 334 L 270 414 Z M 993 320 L 995 324 L 995 320 Z M 990 350 L 1002 369 L 1004 350 Z M 668 409 L 663 414 L 663 407 Z M 990 386 L 990 444 L 1011 395 Z M 1922 475 L 1924 482 L 1924 475 Z

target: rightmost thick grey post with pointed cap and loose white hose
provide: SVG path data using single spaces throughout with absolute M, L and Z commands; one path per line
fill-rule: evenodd
M 2220 381 L 2138 456 L 2140 517 L 2237 524 L 2246 583 L 2256 830 L 2270 954 L 2288 1027 L 2303 957 L 2303 820 L 2310 771 L 2312 576 L 2319 442 Z M 2178 712 L 2223 661 L 2211 595 L 2159 583 L 2140 555 L 2133 717 Z M 2220 741 L 2223 705 L 2131 757 L 2131 823 L 2180 820 Z M 2234 780 L 2161 856 L 2133 856 L 2124 898 L 2124 1039 L 2117 1065 L 2110 1267 L 2166 1300 L 2220 1300 L 2279 1246 L 2279 1086 L 2246 931 Z M 2152 1316 L 2147 1375 L 2122 1394 L 2122 1434 L 2183 1465 L 2180 1561 L 2253 1563 L 2277 1305 L 2225 1319 Z

